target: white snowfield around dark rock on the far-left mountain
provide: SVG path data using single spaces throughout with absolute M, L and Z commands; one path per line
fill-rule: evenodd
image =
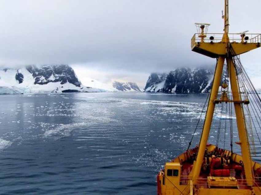
M 15 79 L 17 71 L 21 73 L 24 78 L 23 82 L 19 83 Z M 49 81 L 53 81 L 55 78 L 53 75 L 48 78 Z M 44 77 L 41 80 L 45 80 Z M 24 93 L 62 93 L 64 90 L 77 90 L 80 92 L 106 92 L 115 91 L 113 88 L 102 87 L 102 83 L 93 81 L 88 86 L 81 85 L 80 87 L 73 85 L 72 83 L 60 84 L 60 82 L 49 82 L 47 84 L 34 84 L 35 80 L 33 75 L 27 71 L 26 68 L 21 69 L 0 69 L 0 94 L 24 94 Z

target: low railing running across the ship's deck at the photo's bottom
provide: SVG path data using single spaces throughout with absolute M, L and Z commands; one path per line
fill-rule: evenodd
M 222 178 L 222 177 L 220 177 Z M 238 188 L 238 189 L 248 189 L 250 186 L 248 186 L 249 183 L 253 183 L 253 186 L 255 187 L 261 187 L 261 178 L 255 177 L 254 180 L 247 180 L 247 179 L 235 179 L 236 182 L 230 185 L 228 182 L 224 180 L 224 182 L 219 181 L 218 184 L 210 184 L 208 183 L 207 178 L 198 178 L 195 180 L 191 179 L 191 176 L 181 176 L 180 179 L 180 185 L 186 185 L 186 188 L 189 187 L 191 189 L 191 185 L 195 186 L 196 188 L 211 188 L 211 187 L 218 187 L 218 188 Z

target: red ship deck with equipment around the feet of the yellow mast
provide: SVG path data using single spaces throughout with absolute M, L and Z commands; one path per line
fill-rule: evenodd
M 212 145 L 213 146 L 213 145 Z M 212 147 L 213 148 L 213 147 Z M 197 148 L 196 148 L 197 150 Z M 193 150 L 191 150 L 193 152 Z M 215 151 L 215 149 L 214 149 Z M 195 152 L 195 149 L 194 149 Z M 201 168 L 200 176 L 197 181 L 194 181 L 193 184 L 197 185 L 198 188 L 237 188 L 237 189 L 250 189 L 251 187 L 247 185 L 247 180 L 245 178 L 244 170 L 243 170 L 243 162 L 238 160 L 240 155 L 233 154 L 233 158 L 231 156 L 224 157 L 224 153 L 229 154 L 228 151 L 221 150 L 223 155 L 212 155 L 206 154 L 204 157 L 204 162 Z M 212 150 L 213 153 L 213 150 Z M 186 154 L 184 153 L 184 156 Z M 195 156 L 195 155 L 194 155 Z M 176 158 L 179 160 L 181 164 L 181 177 L 180 177 L 180 185 L 188 185 L 189 184 L 189 174 L 193 169 L 193 155 L 190 155 L 190 158 L 185 158 L 184 161 L 181 158 Z M 217 166 L 215 164 L 215 160 L 221 161 Z M 220 160 L 221 159 L 221 160 Z M 233 160 L 232 160 L 233 159 Z M 240 159 L 240 158 L 239 158 Z M 221 173 L 220 175 L 215 175 L 214 171 Z M 225 174 L 223 173 L 225 172 Z M 261 187 L 261 172 L 257 172 L 257 170 L 253 170 L 255 175 L 254 178 L 254 186 Z M 215 179 L 218 180 L 218 184 L 215 183 Z M 228 185 L 228 180 L 232 185 Z M 211 181 L 210 181 L 211 180 Z M 222 182 L 222 180 L 224 182 Z M 234 182 L 234 183 L 233 183 Z M 236 184 L 235 184 L 236 183 Z

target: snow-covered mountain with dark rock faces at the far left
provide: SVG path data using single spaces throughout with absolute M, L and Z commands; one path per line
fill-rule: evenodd
M 102 91 L 106 90 L 82 85 L 68 65 L 0 69 L 0 94 Z

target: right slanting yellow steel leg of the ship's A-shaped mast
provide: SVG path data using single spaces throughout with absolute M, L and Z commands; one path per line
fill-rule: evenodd
M 241 96 L 239 93 L 239 86 L 236 78 L 236 70 L 234 67 L 233 59 L 232 57 L 227 58 L 227 65 L 228 65 L 228 76 L 230 78 L 231 82 L 231 90 L 232 90 L 232 96 L 233 100 L 235 101 L 241 101 Z M 249 150 L 249 145 L 247 141 L 247 130 L 244 125 L 244 118 L 243 118 L 243 108 L 241 103 L 234 102 L 234 107 L 235 107 L 235 113 L 236 113 L 236 123 L 237 123 L 237 129 L 238 129 L 238 134 L 239 134 L 239 139 L 241 142 L 241 153 L 242 153 L 242 158 L 244 162 L 244 170 L 245 170 L 245 175 L 246 179 L 248 181 L 248 185 L 252 186 L 253 185 L 253 170 L 251 166 L 251 154 Z

